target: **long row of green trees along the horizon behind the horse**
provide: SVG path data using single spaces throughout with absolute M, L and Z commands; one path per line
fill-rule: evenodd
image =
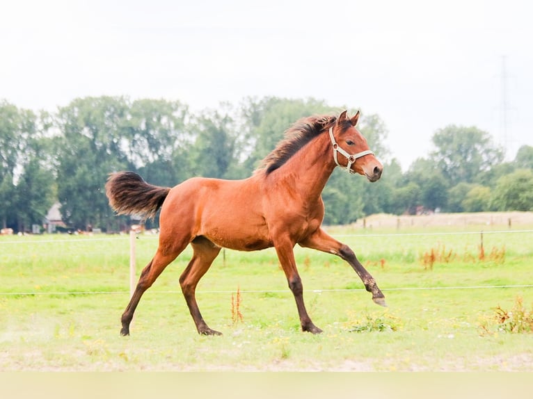
M 265 97 L 193 113 L 180 101 L 84 97 L 35 113 L 0 101 L 0 227 L 40 225 L 59 202 L 72 229 L 116 231 L 128 220 L 109 208 L 109 172 L 133 170 L 160 186 L 193 176 L 243 179 L 300 117 L 344 108 Z M 381 212 L 533 210 L 533 147 L 504 162 L 489 133 L 450 125 L 433 134 L 435 150 L 404 172 L 378 115 L 363 115 L 359 128 L 383 161 L 383 177 L 369 184 L 333 173 L 323 193 L 328 225 Z

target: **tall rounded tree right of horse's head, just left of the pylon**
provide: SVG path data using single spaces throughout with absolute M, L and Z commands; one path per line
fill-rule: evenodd
M 476 127 L 452 124 L 436 131 L 431 140 L 436 150 L 430 158 L 452 186 L 460 181 L 471 183 L 479 172 L 500 163 L 504 156 L 491 136 Z

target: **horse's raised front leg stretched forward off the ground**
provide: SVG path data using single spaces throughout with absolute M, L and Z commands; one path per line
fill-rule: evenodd
M 372 293 L 372 300 L 381 306 L 387 306 L 385 302 L 385 295 L 381 292 L 376 280 L 370 275 L 369 272 L 363 267 L 360 261 L 357 259 L 356 254 L 351 250 L 351 248 L 335 238 L 329 236 L 324 230 L 318 229 L 315 234 L 305 238 L 304 241 L 299 243 L 302 247 L 309 247 L 314 250 L 319 250 L 322 252 L 328 252 L 330 254 L 335 254 L 337 257 L 341 257 L 347 261 L 353 270 L 356 270 L 357 275 L 360 277 L 365 288 L 369 293 Z

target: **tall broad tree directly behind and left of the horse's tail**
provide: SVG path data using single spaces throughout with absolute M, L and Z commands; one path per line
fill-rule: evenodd
M 112 221 L 104 184 L 109 172 L 134 166 L 127 158 L 128 104 L 122 97 L 86 97 L 60 108 L 56 126 L 58 199 L 65 222 L 77 229 Z

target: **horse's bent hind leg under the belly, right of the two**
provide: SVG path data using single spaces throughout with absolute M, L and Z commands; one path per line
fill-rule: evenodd
M 205 272 L 209 270 L 209 266 L 211 266 L 221 248 L 214 245 L 205 237 L 195 238 L 191 245 L 194 251 L 193 257 L 180 276 L 183 296 L 185 297 L 191 316 L 193 316 L 198 334 L 221 335 L 220 332 L 210 329 L 207 326 L 196 303 L 196 285 L 202 276 L 205 275 Z

